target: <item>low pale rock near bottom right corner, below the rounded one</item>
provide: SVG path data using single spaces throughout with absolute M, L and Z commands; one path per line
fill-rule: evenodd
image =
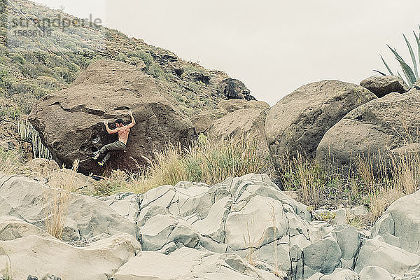
M 377 237 L 363 239 L 354 271 L 359 273 L 364 267 L 377 266 L 386 269 L 390 274 L 401 274 L 411 272 L 419 265 L 419 255 L 389 245 Z

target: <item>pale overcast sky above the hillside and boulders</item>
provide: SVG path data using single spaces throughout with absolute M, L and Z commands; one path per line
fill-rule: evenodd
M 242 80 L 274 105 L 317 80 L 350 83 L 393 69 L 386 44 L 409 60 L 404 32 L 415 47 L 419 0 L 38 0 L 175 52 Z M 416 47 L 414 51 L 417 52 Z M 409 60 L 410 61 L 410 60 Z

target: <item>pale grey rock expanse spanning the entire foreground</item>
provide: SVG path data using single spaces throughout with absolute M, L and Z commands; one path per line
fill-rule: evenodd
M 394 202 L 375 224 L 374 238 L 351 225 L 311 221 L 308 207 L 266 175 L 214 186 L 180 182 L 143 195 L 99 197 L 102 202 L 71 194 L 64 243 L 42 229 L 41 197 L 53 191 L 30 179 L 1 176 L 0 277 L 10 266 L 16 279 L 420 276 L 419 193 Z M 69 235 L 71 229 L 78 234 Z M 75 242 L 80 239 L 85 242 Z

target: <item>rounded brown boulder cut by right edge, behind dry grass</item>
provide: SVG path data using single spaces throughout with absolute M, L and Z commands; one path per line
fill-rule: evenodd
M 354 167 L 368 157 L 375 174 L 391 165 L 391 154 L 416 150 L 420 125 L 420 94 L 388 94 L 354 109 L 325 133 L 316 159 L 325 168 Z

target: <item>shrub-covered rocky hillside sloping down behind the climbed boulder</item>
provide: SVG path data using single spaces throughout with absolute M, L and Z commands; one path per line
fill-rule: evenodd
M 30 1 L 15 0 L 15 6 L 0 1 L 0 117 L 27 114 L 34 102 L 62 90 L 93 62 L 112 59 L 136 66 L 155 78 L 172 94 L 187 116 L 214 109 L 221 99 L 253 99 L 239 80 L 222 71 L 204 69 L 186 62 L 169 50 L 101 26 L 46 28 L 46 36 L 15 36 L 13 20 L 32 22 L 66 18 L 78 20 L 60 10 Z

